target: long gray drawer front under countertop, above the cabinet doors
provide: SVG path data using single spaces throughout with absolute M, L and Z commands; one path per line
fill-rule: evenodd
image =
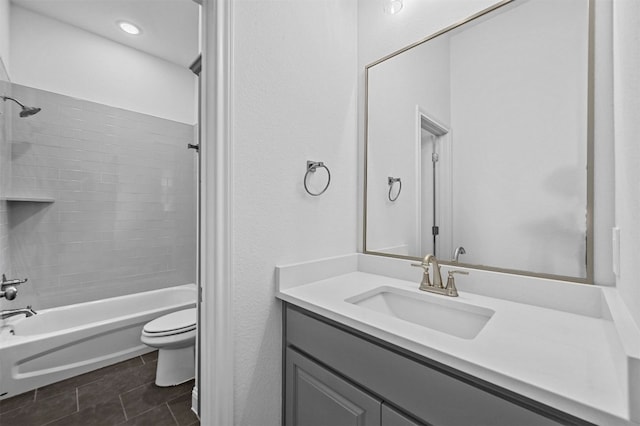
M 342 325 L 330 325 L 297 308 L 286 309 L 286 342 L 330 366 L 353 382 L 402 407 L 422 421 L 437 426 L 545 426 L 582 424 L 580 419 L 546 409 L 531 401 L 531 411 L 503 399 L 500 389 L 481 388 L 483 382 L 470 382 L 469 376 L 442 371 L 434 363 L 408 357 L 352 333 Z M 357 333 L 357 332 L 356 332 Z M 361 334 L 361 333 L 358 333 Z M 389 345 L 390 346 L 390 345 Z M 529 400 L 504 390 L 511 400 Z M 498 396 L 500 395 L 500 396 Z M 555 419 L 555 420 L 552 420 Z

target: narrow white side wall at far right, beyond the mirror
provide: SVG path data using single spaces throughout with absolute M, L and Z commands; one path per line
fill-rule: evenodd
M 640 2 L 613 3 L 616 225 L 620 227 L 617 286 L 640 326 Z

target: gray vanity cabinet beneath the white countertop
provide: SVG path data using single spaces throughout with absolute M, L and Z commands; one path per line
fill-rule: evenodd
M 285 426 L 589 425 L 285 303 Z

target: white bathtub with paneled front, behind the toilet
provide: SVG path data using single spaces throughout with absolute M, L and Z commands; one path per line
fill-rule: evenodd
M 0 399 L 154 350 L 140 342 L 154 318 L 195 306 L 186 284 L 94 302 L 43 309 L 0 328 Z

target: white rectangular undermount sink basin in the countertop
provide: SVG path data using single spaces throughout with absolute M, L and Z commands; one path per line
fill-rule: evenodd
M 475 338 L 495 313 L 446 296 L 395 287 L 378 287 L 346 302 L 462 339 Z

